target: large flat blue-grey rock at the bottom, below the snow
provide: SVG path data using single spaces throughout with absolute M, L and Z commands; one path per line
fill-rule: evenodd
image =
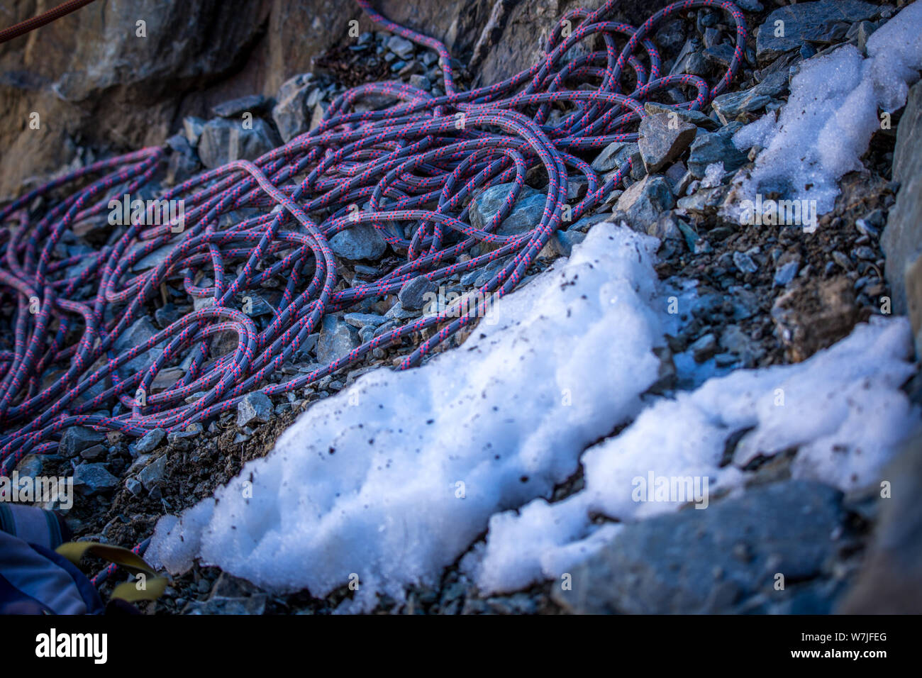
M 841 493 L 816 482 L 750 489 L 706 510 L 687 508 L 624 527 L 573 569 L 553 597 L 572 613 L 727 613 L 768 605 L 774 589 L 817 577 L 833 555 Z

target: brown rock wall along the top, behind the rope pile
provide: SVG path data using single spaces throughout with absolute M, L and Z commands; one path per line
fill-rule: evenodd
M 378 0 L 384 15 L 443 41 L 461 64 L 492 83 L 532 65 L 565 11 L 602 0 Z M 624 0 L 609 17 L 647 16 L 668 0 Z M 39 11 L 6 3 L 13 25 Z M 313 70 L 345 44 L 349 21 L 373 24 L 348 0 L 123 0 L 94 3 L 0 45 L 0 197 L 18 195 L 34 175 L 87 161 L 82 147 L 160 145 L 171 121 L 209 117 L 221 101 L 261 93 Z M 145 21 L 138 35 L 137 21 Z M 295 106 L 297 108 L 297 105 Z M 30 129 L 30 113 L 41 127 Z M 311 112 L 313 114 L 313 112 Z M 279 131 L 294 134 L 290 121 Z M 290 137 L 289 137 L 290 138 Z M 193 144 L 195 145 L 195 144 Z M 31 179 L 29 179 L 32 182 Z M 31 183 L 29 184 L 31 185 Z

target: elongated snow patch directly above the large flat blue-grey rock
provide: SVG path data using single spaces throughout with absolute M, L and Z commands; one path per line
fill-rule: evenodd
M 585 452 L 585 489 L 556 504 L 537 499 L 518 513 L 491 518 L 482 562 L 471 567 L 483 591 L 512 591 L 563 573 L 594 553 L 621 521 L 676 510 L 638 479 L 708 479 L 710 494 L 741 486 L 758 455 L 798 448 L 792 473 L 848 490 L 880 482 L 880 472 L 918 412 L 900 386 L 914 373 L 912 333 L 904 318 L 877 319 L 804 363 L 738 370 L 675 400 L 659 400 L 626 428 Z M 727 438 L 739 441 L 734 464 L 720 468 Z M 707 502 L 694 502 L 706 507 Z M 603 532 L 604 530 L 604 532 Z M 602 534 L 599 534 L 603 532 Z

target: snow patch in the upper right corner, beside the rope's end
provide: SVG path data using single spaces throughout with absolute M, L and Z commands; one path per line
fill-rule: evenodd
M 817 213 L 833 209 L 838 180 L 861 169 L 860 157 L 880 129 L 879 109 L 892 113 L 906 102 L 908 84 L 922 69 L 922 3 L 905 7 L 868 40 L 868 58 L 853 45 L 802 62 L 791 94 L 774 113 L 739 130 L 739 149 L 764 147 L 741 197 L 773 191 L 816 200 Z

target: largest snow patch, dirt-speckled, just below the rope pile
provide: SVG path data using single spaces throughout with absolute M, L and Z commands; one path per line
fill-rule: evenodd
M 491 515 L 550 496 L 586 446 L 639 412 L 662 342 L 655 247 L 597 224 L 463 346 L 313 405 L 217 503 L 162 518 L 148 556 L 176 572 L 197 555 L 314 596 L 358 575 L 344 612 L 437 582 Z

